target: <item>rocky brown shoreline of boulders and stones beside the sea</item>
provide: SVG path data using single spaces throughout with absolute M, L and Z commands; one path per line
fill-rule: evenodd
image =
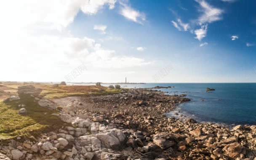
M 67 125 L 33 140 L 11 139 L 0 160 L 256 160 L 255 125 L 230 129 L 164 115 L 185 101 L 150 89 L 54 99 L 49 106 Z

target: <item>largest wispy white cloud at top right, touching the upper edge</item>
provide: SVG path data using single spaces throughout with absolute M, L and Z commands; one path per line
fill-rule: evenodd
M 200 12 L 203 14 L 197 19 L 198 23 L 212 23 L 214 21 L 219 21 L 222 19 L 221 14 L 224 13 L 223 10 L 215 8 L 208 4 L 205 0 L 195 0 L 200 5 Z

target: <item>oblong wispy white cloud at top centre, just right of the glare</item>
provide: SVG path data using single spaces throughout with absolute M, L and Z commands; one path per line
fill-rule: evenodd
M 146 20 L 144 13 L 136 11 L 126 4 L 121 3 L 121 5 L 123 5 L 123 8 L 121 9 L 120 14 L 123 15 L 126 19 L 139 24 L 142 24 L 142 22 Z

